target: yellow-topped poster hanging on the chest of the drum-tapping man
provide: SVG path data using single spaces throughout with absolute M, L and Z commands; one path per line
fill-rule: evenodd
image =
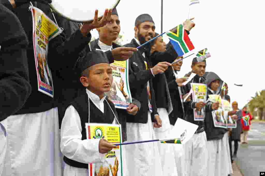
M 48 44 L 62 31 L 40 9 L 30 6 L 33 18 L 33 47 L 38 79 L 38 91 L 54 96 L 51 70 L 47 63 Z M 56 58 L 54 58 L 56 59 Z

